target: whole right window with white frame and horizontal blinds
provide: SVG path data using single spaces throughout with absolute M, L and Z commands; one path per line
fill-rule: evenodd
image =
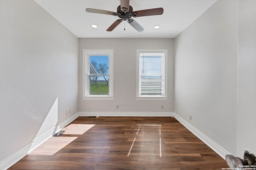
M 137 99 L 167 99 L 167 50 L 137 50 Z

